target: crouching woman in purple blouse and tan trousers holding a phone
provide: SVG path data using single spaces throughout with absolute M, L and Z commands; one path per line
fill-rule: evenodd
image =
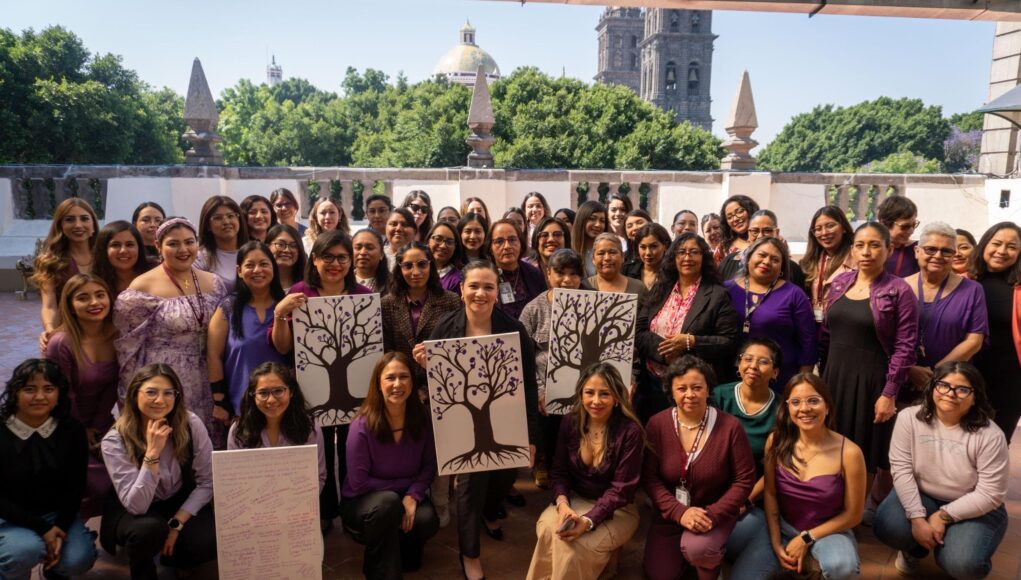
M 632 500 L 644 434 L 617 369 L 586 369 L 575 407 L 561 423 L 551 483 L 554 505 L 535 525 L 539 539 L 528 578 L 596 578 L 638 529 Z

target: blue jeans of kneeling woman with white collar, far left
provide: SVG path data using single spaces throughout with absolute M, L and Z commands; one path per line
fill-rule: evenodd
M 43 516 L 49 523 L 56 521 L 56 513 Z M 0 578 L 28 580 L 32 569 L 46 558 L 46 543 L 29 528 L 0 520 Z M 96 562 L 96 537 L 86 529 L 82 520 L 75 518 L 67 529 L 67 538 L 60 548 L 60 562 L 52 572 L 64 576 L 80 576 Z

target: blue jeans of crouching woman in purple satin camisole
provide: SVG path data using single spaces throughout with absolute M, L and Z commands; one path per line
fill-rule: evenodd
M 763 517 L 765 523 L 765 514 Z M 784 545 L 797 533 L 798 530 L 780 520 L 780 538 Z M 832 580 L 858 578 L 861 563 L 858 559 L 858 542 L 855 541 L 855 534 L 850 530 L 819 538 L 809 549 L 819 563 L 823 578 Z M 769 578 L 780 570 L 780 561 L 773 552 L 769 529 L 765 526 L 736 555 L 737 561 L 730 569 L 731 578 Z

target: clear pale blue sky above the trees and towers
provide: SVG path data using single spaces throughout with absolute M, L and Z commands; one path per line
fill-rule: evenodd
M 504 74 L 533 65 L 591 82 L 601 10 L 486 0 L 36 0 L 5 2 L 0 27 L 61 25 L 90 50 L 119 54 L 146 82 L 181 94 L 198 56 L 218 95 L 239 79 L 262 82 L 271 53 L 285 78 L 326 90 L 339 90 L 348 66 L 423 80 L 466 18 Z M 716 12 L 713 29 L 717 135 L 744 69 L 759 113 L 753 137 L 764 144 L 819 104 L 915 97 L 949 114 L 986 97 L 991 22 Z

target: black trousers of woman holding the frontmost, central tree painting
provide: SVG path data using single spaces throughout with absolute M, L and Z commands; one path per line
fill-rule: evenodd
M 482 518 L 496 518 L 496 512 L 514 487 L 516 479 L 518 470 L 461 474 L 454 479 L 457 547 L 466 558 L 479 558 L 482 553 Z

